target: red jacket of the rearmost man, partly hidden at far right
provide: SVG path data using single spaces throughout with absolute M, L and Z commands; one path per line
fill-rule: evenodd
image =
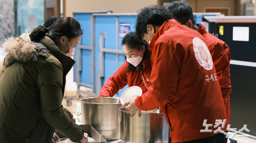
M 231 92 L 231 82 L 230 82 L 230 60 L 231 55 L 228 45 L 215 37 L 214 35 L 208 33 L 203 24 L 201 28 L 197 31 L 203 35 L 206 40 L 206 45 L 211 53 L 212 61 L 217 72 L 217 77 L 220 84 L 221 94 L 224 100 L 227 114 L 227 123 L 229 124 L 230 119 L 230 104 L 229 104 L 229 94 Z

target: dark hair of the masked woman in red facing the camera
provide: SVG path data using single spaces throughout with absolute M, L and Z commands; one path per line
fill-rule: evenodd
M 143 46 L 144 46 L 145 52 L 143 53 L 142 61 L 147 59 L 147 63 L 149 64 L 149 58 L 151 56 L 151 52 L 147 49 L 149 45 L 147 44 L 147 42 L 145 40 L 144 41 L 138 40 L 135 32 L 130 32 L 130 33 L 126 34 L 122 40 L 122 45 L 126 45 L 127 47 L 132 48 L 132 49 L 137 49 L 138 51 L 140 51 L 141 48 L 143 48 Z M 124 58 L 126 60 L 126 56 L 124 56 Z M 127 62 L 127 63 L 129 64 L 129 66 L 125 71 L 129 72 L 129 71 L 133 70 L 133 68 L 135 66 L 133 66 L 129 62 Z M 150 64 L 149 64 L 149 67 L 151 68 Z M 142 68 L 143 68 L 142 62 L 136 68 L 138 70 L 142 71 Z

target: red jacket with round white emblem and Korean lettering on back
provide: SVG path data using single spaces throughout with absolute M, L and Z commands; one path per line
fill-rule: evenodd
M 141 110 L 162 106 L 171 128 L 172 143 L 214 135 L 213 131 L 218 129 L 213 127 L 216 119 L 223 121 L 227 117 L 203 36 L 171 19 L 156 32 L 149 49 L 153 49 L 150 75 L 153 85 L 136 98 L 136 106 Z M 204 119 L 206 124 L 212 124 L 209 132 L 200 132 L 206 129 Z

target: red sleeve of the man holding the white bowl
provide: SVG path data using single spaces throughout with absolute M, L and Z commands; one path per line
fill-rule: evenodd
M 164 106 L 175 97 L 183 57 L 182 50 L 182 46 L 155 44 L 152 52 L 154 65 L 150 75 L 153 84 L 145 94 L 136 98 L 135 104 L 138 108 L 153 110 Z

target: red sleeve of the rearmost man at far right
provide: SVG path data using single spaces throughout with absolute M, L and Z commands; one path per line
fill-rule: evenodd
M 214 50 L 214 51 L 212 51 Z M 226 43 L 216 43 L 209 48 L 217 72 L 221 94 L 226 105 L 231 92 L 230 60 L 231 55 Z M 215 52 L 216 51 L 216 52 Z

